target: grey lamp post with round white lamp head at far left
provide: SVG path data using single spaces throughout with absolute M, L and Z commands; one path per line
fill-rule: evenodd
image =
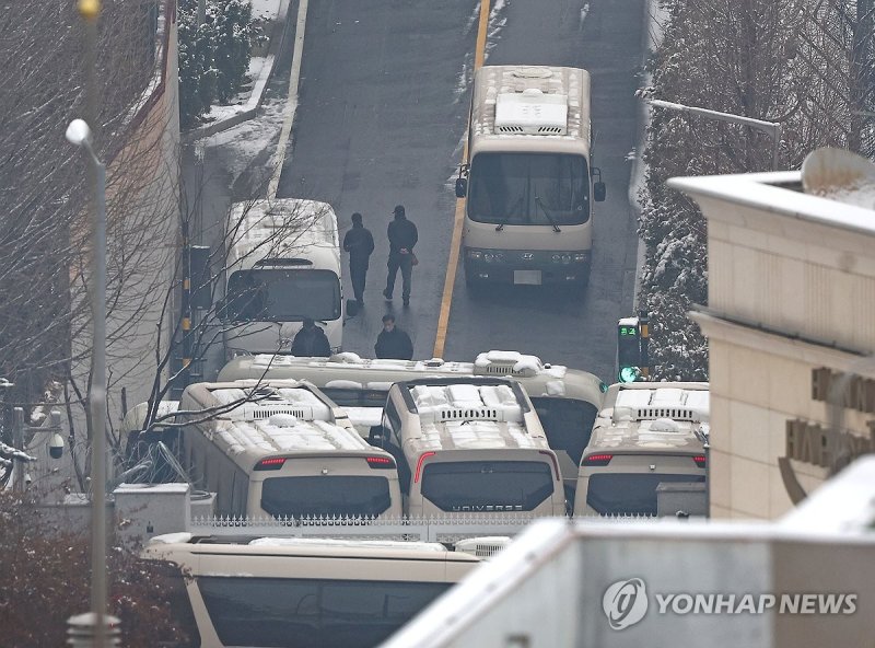
M 106 167 L 92 148 L 91 128 L 83 119 L 67 127 L 67 139 L 90 158 L 94 170 L 94 210 L 90 254 L 92 350 L 89 405 L 91 439 L 91 608 L 94 646 L 106 635 Z

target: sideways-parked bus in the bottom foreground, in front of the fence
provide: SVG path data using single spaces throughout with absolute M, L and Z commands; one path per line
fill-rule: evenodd
M 480 564 L 439 543 L 159 535 L 186 574 L 200 648 L 373 648 Z

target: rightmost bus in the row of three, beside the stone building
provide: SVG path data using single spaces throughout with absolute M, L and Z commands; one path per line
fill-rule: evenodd
M 575 516 L 656 516 L 661 484 L 708 477 L 707 382 L 611 385 L 583 452 Z M 704 510 L 704 490 L 701 508 Z

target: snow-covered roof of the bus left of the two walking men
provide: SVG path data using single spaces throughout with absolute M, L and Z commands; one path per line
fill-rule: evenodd
M 229 267 L 249 269 L 265 259 L 304 259 L 312 269 L 338 271 L 340 241 L 337 216 L 327 202 L 277 198 L 235 202 L 228 219 Z M 277 232 L 285 230 L 282 236 Z M 280 267 L 282 262 L 277 263 Z

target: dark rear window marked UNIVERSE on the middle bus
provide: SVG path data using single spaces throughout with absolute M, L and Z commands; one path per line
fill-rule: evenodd
M 552 467 L 539 461 L 431 463 L 422 472 L 422 496 L 442 511 L 530 511 L 552 491 Z

